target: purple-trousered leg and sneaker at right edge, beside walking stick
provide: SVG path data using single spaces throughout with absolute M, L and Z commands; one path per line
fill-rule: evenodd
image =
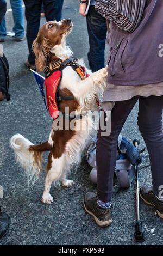
M 163 218 L 163 95 L 140 97 L 138 125 L 147 145 L 153 188 L 143 186 L 140 196 Z

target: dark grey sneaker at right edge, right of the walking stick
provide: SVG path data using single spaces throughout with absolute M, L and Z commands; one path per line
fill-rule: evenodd
M 163 218 L 163 201 L 159 200 L 151 187 L 141 187 L 139 191 L 141 199 L 149 205 L 152 205 L 156 213 Z

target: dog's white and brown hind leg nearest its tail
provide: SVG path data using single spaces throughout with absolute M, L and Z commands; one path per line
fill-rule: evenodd
M 63 176 L 64 170 L 65 154 L 62 154 L 61 157 L 54 158 L 51 151 L 48 156 L 45 190 L 41 199 L 43 203 L 51 204 L 53 202 L 53 197 L 50 194 L 52 182 L 54 182 L 54 184 L 59 182 L 59 179 Z

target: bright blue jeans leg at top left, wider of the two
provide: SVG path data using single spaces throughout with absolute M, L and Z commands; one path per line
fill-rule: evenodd
M 13 31 L 16 38 L 22 38 L 24 36 L 24 17 L 22 0 L 10 0 L 12 15 L 14 19 Z

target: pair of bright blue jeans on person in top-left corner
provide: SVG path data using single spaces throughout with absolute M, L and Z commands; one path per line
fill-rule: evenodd
M 15 38 L 22 38 L 24 36 L 24 19 L 23 19 L 23 8 L 22 0 L 10 0 L 12 15 L 14 19 L 13 32 L 15 33 Z M 0 38 L 5 38 L 6 27 L 5 18 L 3 18 L 0 26 Z

